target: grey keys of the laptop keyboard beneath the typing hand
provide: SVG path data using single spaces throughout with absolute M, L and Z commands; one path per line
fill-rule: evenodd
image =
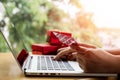
M 51 56 L 38 56 L 37 57 L 37 70 L 62 70 L 74 71 L 68 61 L 56 61 Z

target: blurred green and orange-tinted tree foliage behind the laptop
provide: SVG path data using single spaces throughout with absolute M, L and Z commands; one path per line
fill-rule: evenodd
M 16 38 L 17 33 L 10 28 L 14 25 L 29 51 L 31 44 L 45 43 L 46 31 L 53 29 L 71 32 L 74 38 L 81 42 L 101 46 L 99 38 L 95 35 L 96 26 L 91 21 L 91 14 L 88 14 L 90 18 L 87 19 L 87 13 L 80 12 L 75 19 L 71 19 L 69 14 L 48 0 L 1 0 L 0 2 L 3 3 L 6 10 L 4 18 L 9 18 L 9 22 L 11 22 L 4 24 L 3 19 L 0 27 L 8 26 L 9 34 L 12 34 L 9 39 L 15 44 L 21 45 L 21 41 Z M 84 11 L 78 0 L 70 0 L 68 4 Z M 1 37 L 0 42 L 3 42 Z M 0 43 L 0 51 L 6 51 L 4 47 L 5 45 Z M 2 50 L 3 48 L 4 50 Z

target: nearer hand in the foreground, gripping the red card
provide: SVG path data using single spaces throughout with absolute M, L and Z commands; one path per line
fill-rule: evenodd
M 75 49 L 75 46 L 71 46 Z M 75 49 L 76 50 L 76 49 Z M 77 52 L 77 61 L 84 72 L 92 73 L 118 73 L 119 67 L 116 55 L 97 48 L 86 48 L 79 46 Z M 120 57 L 119 57 L 120 59 Z

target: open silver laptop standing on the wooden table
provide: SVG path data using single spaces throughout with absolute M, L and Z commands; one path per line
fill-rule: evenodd
M 25 47 L 25 42 L 21 39 L 16 27 L 11 24 L 10 28 L 12 33 L 16 34 L 14 39 L 21 44 L 10 40 L 8 35 L 12 36 L 12 34 L 8 34 L 4 28 L 0 28 L 0 32 L 25 76 L 117 76 L 117 74 L 108 73 L 84 73 L 76 61 L 57 61 L 53 59 L 55 55 L 34 55 Z

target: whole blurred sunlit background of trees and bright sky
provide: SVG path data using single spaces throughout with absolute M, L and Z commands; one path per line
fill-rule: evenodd
M 48 30 L 70 32 L 78 42 L 100 48 L 120 47 L 119 3 L 119 0 L 0 0 L 0 27 L 10 40 L 20 44 L 9 28 L 12 22 L 28 50 L 31 44 L 46 43 Z M 9 51 L 0 34 L 0 52 Z

